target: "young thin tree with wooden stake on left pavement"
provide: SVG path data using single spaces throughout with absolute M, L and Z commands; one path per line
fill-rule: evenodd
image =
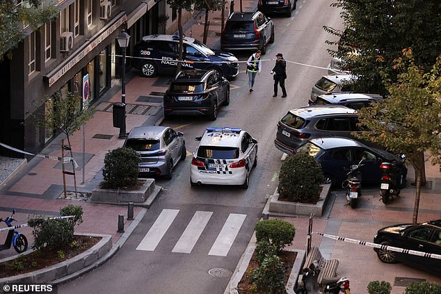
M 73 158 L 70 135 L 74 131 L 78 131 L 81 125 L 93 116 L 94 108 L 81 108 L 81 97 L 75 97 L 70 92 L 67 92 L 66 97 L 63 97 L 59 90 L 45 99 L 43 103 L 44 105 L 52 104 L 52 107 L 45 109 L 45 120 L 37 119 L 38 125 L 64 133 L 67 137 L 67 149 L 69 149 L 70 156 Z M 75 176 L 73 161 L 72 168 L 74 169 L 75 196 L 77 196 L 77 177 Z M 66 187 L 64 187 L 64 191 L 66 192 Z

